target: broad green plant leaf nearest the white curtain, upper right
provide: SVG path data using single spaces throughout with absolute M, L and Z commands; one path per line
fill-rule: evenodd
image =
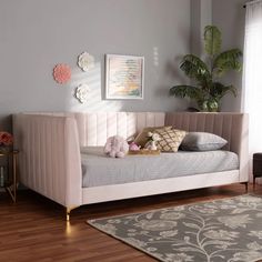
M 240 72 L 242 70 L 241 57 L 242 51 L 238 48 L 222 52 L 215 58 L 212 71 L 219 75 L 230 70 Z

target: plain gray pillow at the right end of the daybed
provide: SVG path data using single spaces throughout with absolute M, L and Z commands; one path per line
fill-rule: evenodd
M 221 149 L 226 143 L 226 140 L 213 133 L 189 132 L 180 148 L 185 151 L 210 151 Z

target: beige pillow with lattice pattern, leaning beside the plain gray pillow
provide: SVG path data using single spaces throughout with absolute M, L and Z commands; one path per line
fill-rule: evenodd
M 161 152 L 178 152 L 179 145 L 184 139 L 187 132 L 183 130 L 157 130 L 160 134 L 160 141 L 158 141 L 158 149 Z

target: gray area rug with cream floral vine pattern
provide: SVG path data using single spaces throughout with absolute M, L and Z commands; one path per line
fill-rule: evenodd
M 262 260 L 261 196 L 246 194 L 88 223 L 160 261 Z

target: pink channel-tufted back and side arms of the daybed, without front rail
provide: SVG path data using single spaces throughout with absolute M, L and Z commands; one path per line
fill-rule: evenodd
M 165 121 L 165 122 L 164 122 Z M 248 115 L 242 113 L 49 113 L 16 114 L 14 147 L 20 181 L 66 206 L 81 205 L 81 145 L 103 145 L 108 137 L 130 137 L 147 125 L 173 125 L 219 134 L 239 154 L 239 182 L 248 181 Z

